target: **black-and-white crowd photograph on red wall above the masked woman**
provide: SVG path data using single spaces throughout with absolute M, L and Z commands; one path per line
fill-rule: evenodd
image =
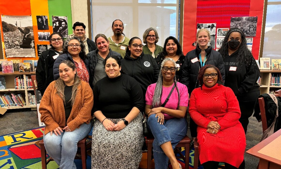
M 230 28 L 238 27 L 246 36 L 254 37 L 257 31 L 258 17 L 232 17 L 230 19 Z

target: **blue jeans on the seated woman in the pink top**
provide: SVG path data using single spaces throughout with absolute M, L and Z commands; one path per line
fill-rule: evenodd
M 148 126 L 154 136 L 153 141 L 153 156 L 155 169 L 163 169 L 168 166 L 168 157 L 161 149 L 160 145 L 166 142 L 171 142 L 173 149 L 187 133 L 187 121 L 185 118 L 173 118 L 164 120 L 164 124 L 157 122 L 158 117 L 155 115 L 148 117 Z

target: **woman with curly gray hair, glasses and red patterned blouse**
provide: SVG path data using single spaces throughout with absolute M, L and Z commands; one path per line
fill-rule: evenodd
M 77 36 L 68 38 L 65 41 L 62 53 L 63 54 L 56 59 L 53 67 L 54 79 L 59 77 L 58 65 L 60 62 L 63 60 L 69 60 L 75 64 L 78 77 L 84 82 L 89 83 L 89 60 L 86 57 L 85 45 L 80 38 Z M 90 86 L 92 87 L 92 83 L 90 83 Z

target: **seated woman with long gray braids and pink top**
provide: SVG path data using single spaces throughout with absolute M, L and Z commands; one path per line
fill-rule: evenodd
M 145 97 L 148 126 L 155 138 L 155 169 L 167 168 L 168 160 L 173 168 L 178 169 L 182 167 L 177 162 L 173 149 L 187 133 L 187 121 L 184 117 L 188 92 L 185 85 L 176 81 L 176 62 L 173 59 L 164 59 L 160 70 L 157 83 L 148 86 Z

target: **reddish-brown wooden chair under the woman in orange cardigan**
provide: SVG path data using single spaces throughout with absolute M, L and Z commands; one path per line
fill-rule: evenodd
M 86 165 L 86 160 L 87 160 L 86 139 L 87 139 L 87 137 L 83 138 L 82 140 L 80 140 L 77 143 L 77 147 L 80 147 L 80 149 L 81 149 L 81 156 L 75 156 L 75 159 L 82 159 L 82 169 L 87 168 L 87 165 Z M 39 142 L 39 145 L 40 145 L 40 150 L 41 150 L 42 169 L 47 169 L 47 164 L 50 161 L 54 161 L 54 160 L 51 157 L 47 160 L 47 158 L 46 158 L 47 153 L 46 153 L 43 139 Z

